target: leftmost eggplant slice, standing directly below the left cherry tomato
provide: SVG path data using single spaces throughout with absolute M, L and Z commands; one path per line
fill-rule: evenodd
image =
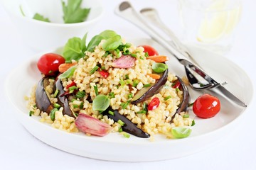
M 40 111 L 50 113 L 54 108 L 53 104 L 50 102 L 49 95 L 46 92 L 46 86 L 49 84 L 50 77 L 43 77 L 36 87 L 36 107 Z

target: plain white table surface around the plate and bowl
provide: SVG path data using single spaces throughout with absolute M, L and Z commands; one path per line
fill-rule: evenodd
M 105 29 L 116 30 L 124 37 L 148 36 L 127 21 L 115 16 L 113 9 L 120 0 L 102 1 L 106 12 L 102 23 L 91 31 L 92 35 Z M 164 22 L 180 36 L 176 0 L 140 0 L 132 1 L 134 7 L 155 7 L 159 10 Z M 233 48 L 228 57 L 240 65 L 256 84 L 255 40 L 256 1 L 243 1 L 242 19 L 238 33 L 233 42 Z M 4 96 L 4 79 L 6 75 L 23 60 L 28 60 L 36 54 L 25 44 L 21 35 L 14 27 L 4 8 L 0 6 L 0 83 L 1 119 L 0 119 L 0 169 L 256 169 L 256 130 L 255 108 L 250 107 L 240 128 L 227 134 L 225 139 L 213 147 L 196 154 L 178 159 L 160 162 L 106 162 L 79 157 L 60 151 L 33 137 L 12 114 L 11 104 Z M 15 83 L 15 82 L 14 82 Z M 255 92 L 254 92 L 255 93 Z M 255 104 L 255 94 L 252 105 Z

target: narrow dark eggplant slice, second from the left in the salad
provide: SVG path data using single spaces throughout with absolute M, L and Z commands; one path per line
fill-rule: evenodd
M 58 79 L 55 82 L 55 88 L 54 89 L 58 89 L 58 95 L 57 95 L 58 104 L 61 107 L 63 107 L 63 114 L 64 115 L 69 115 L 73 118 L 76 118 L 75 113 L 72 111 L 72 109 L 70 108 L 70 106 L 68 104 L 67 96 L 63 95 L 63 94 L 65 94 L 65 91 L 64 91 L 64 88 L 63 88 L 63 85 L 62 85 L 60 79 Z

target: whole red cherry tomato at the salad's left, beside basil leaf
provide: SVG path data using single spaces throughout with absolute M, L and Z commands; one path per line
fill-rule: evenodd
M 65 62 L 64 57 L 54 53 L 46 53 L 38 60 L 37 67 L 39 71 L 46 76 L 58 74 L 58 67 Z

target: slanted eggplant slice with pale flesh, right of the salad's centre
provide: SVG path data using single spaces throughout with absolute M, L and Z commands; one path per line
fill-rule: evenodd
M 151 98 L 151 96 L 158 94 L 159 91 L 164 86 L 164 84 L 166 84 L 168 72 L 168 69 L 166 69 L 161 78 L 158 81 L 156 81 L 156 83 L 153 86 L 144 87 L 142 88 L 142 90 L 138 91 L 137 94 L 135 94 L 134 98 L 132 98 L 131 103 L 141 103 L 143 101 L 146 101 L 146 99 Z

